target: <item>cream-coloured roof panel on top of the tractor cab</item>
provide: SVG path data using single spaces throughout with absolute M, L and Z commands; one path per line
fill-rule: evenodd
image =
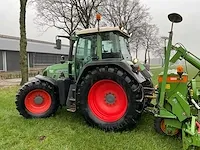
M 130 37 L 127 33 L 125 33 L 119 27 L 101 27 L 99 28 L 99 31 L 98 31 L 98 28 L 89 28 L 89 29 L 76 31 L 76 34 L 85 35 L 85 34 L 92 34 L 92 33 L 98 33 L 98 32 L 112 32 L 112 31 L 117 31 L 117 32 L 122 33 L 126 37 Z

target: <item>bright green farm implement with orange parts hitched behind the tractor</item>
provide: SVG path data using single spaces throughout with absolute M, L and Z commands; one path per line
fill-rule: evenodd
M 165 51 L 164 71 L 158 76 L 154 127 L 158 133 L 164 135 L 182 135 L 184 150 L 196 149 L 200 147 L 200 89 L 197 88 L 195 78 L 200 72 L 189 81 L 182 66 L 178 66 L 177 70 L 169 69 L 169 66 L 179 59 L 185 59 L 200 70 L 200 59 L 187 51 L 182 44 L 172 45 L 173 25 L 181 22 L 182 17 L 172 13 L 168 18 L 172 27 Z M 176 53 L 171 54 L 171 50 Z

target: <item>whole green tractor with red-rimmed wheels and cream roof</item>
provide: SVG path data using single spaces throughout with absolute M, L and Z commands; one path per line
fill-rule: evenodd
M 130 55 L 129 35 L 119 27 L 85 29 L 57 36 L 57 49 L 60 38 L 70 39 L 75 48 L 71 46 L 68 61 L 47 67 L 20 88 L 20 115 L 46 118 L 64 106 L 105 131 L 134 128 L 154 88 L 148 67 Z

